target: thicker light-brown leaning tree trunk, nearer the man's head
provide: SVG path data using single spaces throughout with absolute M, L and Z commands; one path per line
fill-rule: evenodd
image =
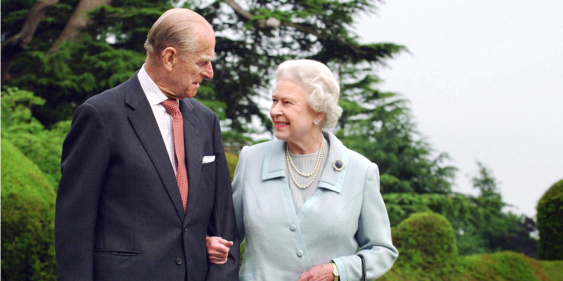
M 79 31 L 83 28 L 86 28 L 91 22 L 91 19 L 88 18 L 88 12 L 92 11 L 93 8 L 96 8 L 101 5 L 107 5 L 111 2 L 111 0 L 81 0 L 78 2 L 78 5 L 74 9 L 72 16 L 68 22 L 66 22 L 65 28 L 62 30 L 61 35 L 55 41 L 49 52 L 55 52 L 59 50 L 59 47 L 62 42 L 67 40 L 72 40 L 79 37 Z

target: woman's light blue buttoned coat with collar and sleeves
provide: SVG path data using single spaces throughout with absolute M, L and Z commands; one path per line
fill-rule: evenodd
M 285 142 L 275 139 L 242 149 L 233 182 L 240 241 L 246 238 L 240 281 L 297 280 L 330 260 L 341 280 L 361 280 L 358 248 L 368 279 L 391 269 L 398 253 L 379 193 L 377 165 L 333 134 L 323 134 L 330 145 L 327 166 L 318 190 L 297 213 L 285 178 Z M 332 167 L 336 158 L 345 163 L 342 171 Z

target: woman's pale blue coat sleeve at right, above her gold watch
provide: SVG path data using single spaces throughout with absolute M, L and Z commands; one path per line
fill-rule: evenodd
M 391 241 L 389 217 L 379 192 L 379 170 L 373 163 L 364 180 L 364 199 L 355 238 L 360 246 L 356 255 L 333 259 L 342 281 L 361 280 L 358 254 L 365 259 L 367 279 L 379 278 L 391 269 L 399 253 Z

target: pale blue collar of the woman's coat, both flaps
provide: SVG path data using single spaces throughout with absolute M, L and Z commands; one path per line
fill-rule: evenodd
M 328 140 L 329 149 L 327 165 L 324 167 L 323 171 L 321 171 L 319 178 L 319 187 L 340 193 L 342 191 L 346 170 L 348 169 L 348 149 L 332 133 L 323 132 L 323 135 Z M 285 178 L 287 171 L 285 142 L 283 140 L 274 139 L 266 149 L 267 151 L 262 165 L 262 180 Z M 340 158 L 345 165 L 342 171 L 335 172 L 332 164 L 337 158 Z

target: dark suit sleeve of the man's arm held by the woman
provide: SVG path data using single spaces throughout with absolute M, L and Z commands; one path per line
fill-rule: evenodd
M 209 264 L 207 280 L 238 280 L 239 278 L 239 235 L 236 230 L 235 211 L 233 209 L 233 191 L 229 166 L 225 157 L 225 150 L 221 140 L 221 125 L 215 115 L 215 128 L 213 133 L 213 150 L 215 151 L 215 198 L 213 211 L 207 233 L 209 236 L 218 236 L 228 241 L 233 241 L 234 246 L 229 250 L 227 262 L 222 265 Z

